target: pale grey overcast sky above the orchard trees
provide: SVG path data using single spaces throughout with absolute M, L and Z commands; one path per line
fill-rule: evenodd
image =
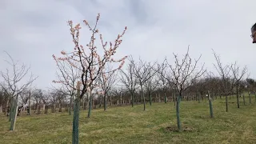
M 39 76 L 35 86 L 50 86 L 56 71 L 52 54 L 74 47 L 66 21 L 92 23 L 100 13 L 98 29 L 107 41 L 128 28 L 118 57 L 171 61 L 190 45 L 191 57 L 202 54 L 208 70 L 214 70 L 214 49 L 223 63 L 246 65 L 256 78 L 256 45 L 250 38 L 254 6 L 254 0 L 0 0 L 0 70 L 8 67 L 6 50 L 31 66 Z M 83 28 L 86 44 L 90 35 Z

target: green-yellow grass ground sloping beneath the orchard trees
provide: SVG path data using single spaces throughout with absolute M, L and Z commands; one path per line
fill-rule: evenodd
M 226 113 L 225 98 L 214 100 L 214 118 L 204 101 L 182 102 L 183 132 L 166 129 L 176 127 L 174 103 L 153 103 L 146 111 L 138 105 L 113 107 L 107 111 L 93 110 L 80 115 L 80 143 L 255 143 L 256 105 L 246 98 L 246 106 L 236 106 L 235 98 Z M 10 122 L 0 118 L 0 143 L 71 143 L 72 117 L 67 113 L 18 117 L 16 130 L 10 132 Z

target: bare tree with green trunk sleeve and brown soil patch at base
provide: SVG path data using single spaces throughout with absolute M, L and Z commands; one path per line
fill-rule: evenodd
M 189 55 L 189 47 L 187 49 L 187 52 L 182 58 L 182 61 L 179 61 L 178 55 L 174 54 L 175 62 L 174 66 L 171 66 L 167 60 L 167 65 L 170 68 L 171 71 L 171 77 L 169 79 L 170 83 L 173 83 L 176 89 L 178 90 L 178 98 L 176 103 L 176 116 L 177 116 L 177 124 L 178 124 L 178 130 L 182 130 L 182 123 L 180 121 L 180 101 L 182 98 L 182 94 L 185 90 L 187 90 L 192 82 L 194 82 L 197 78 L 201 77 L 202 74 L 204 74 L 204 65 L 201 67 L 198 67 L 198 61 L 200 60 L 201 56 L 198 59 L 194 60 L 194 63 L 192 62 L 192 59 Z

